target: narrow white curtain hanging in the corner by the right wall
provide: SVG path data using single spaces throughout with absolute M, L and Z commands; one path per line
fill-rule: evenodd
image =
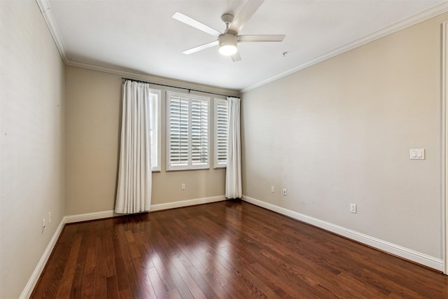
M 228 155 L 225 170 L 225 197 L 241 198 L 241 139 L 239 125 L 239 102 L 237 97 L 228 97 Z

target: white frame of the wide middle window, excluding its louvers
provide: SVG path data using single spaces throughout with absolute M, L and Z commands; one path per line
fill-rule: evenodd
M 181 97 L 188 99 L 188 161 L 186 165 L 172 165 L 171 163 L 171 136 L 172 132 L 170 130 L 171 125 L 171 99 L 172 96 Z M 204 164 L 194 164 L 192 159 L 192 102 L 194 100 L 207 102 L 207 162 Z M 167 99 L 166 99 L 166 171 L 185 171 L 185 170 L 196 170 L 196 169 L 210 169 L 210 135 L 211 135 L 211 99 L 210 97 L 204 97 L 200 95 L 188 95 L 183 94 L 181 92 L 172 92 L 167 90 Z

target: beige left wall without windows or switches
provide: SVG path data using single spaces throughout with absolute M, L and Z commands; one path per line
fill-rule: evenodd
M 64 217 L 64 64 L 36 1 L 0 1 L 0 24 L 0 298 L 19 298 Z

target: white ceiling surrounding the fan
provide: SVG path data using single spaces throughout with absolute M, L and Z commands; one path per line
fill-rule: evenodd
M 447 11 L 447 3 L 441 0 L 267 0 L 240 34 L 286 34 L 283 42 L 239 43 L 239 62 L 220 55 L 217 47 L 191 55 L 181 53 L 215 38 L 174 20 L 176 11 L 223 32 L 221 15 L 237 15 L 244 2 L 38 0 L 68 64 L 234 90 L 260 85 Z M 283 52 L 287 52 L 284 57 Z

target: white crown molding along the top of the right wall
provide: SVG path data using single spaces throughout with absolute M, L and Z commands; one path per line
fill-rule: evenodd
M 389 25 L 388 27 L 384 27 L 383 29 L 379 29 L 376 32 L 372 32 L 371 34 L 368 34 L 367 36 L 363 36 L 360 39 L 356 39 L 355 41 L 352 41 L 351 43 L 347 43 L 344 46 L 336 48 L 335 50 L 331 50 L 330 52 L 327 52 L 323 55 L 320 55 L 311 60 L 308 60 L 307 62 L 299 64 L 299 65 L 297 65 L 297 67 L 293 67 L 292 69 L 283 71 L 282 73 L 280 73 L 276 76 L 267 78 L 266 80 L 261 81 L 259 83 L 255 83 L 254 85 L 251 85 L 248 88 L 244 88 L 243 90 L 240 90 L 239 92 L 240 92 L 240 94 L 244 94 L 245 92 L 248 92 L 255 88 L 259 88 L 262 85 L 265 85 L 272 81 L 276 81 L 279 78 L 283 78 L 285 76 L 293 74 L 296 71 L 306 69 L 307 67 L 311 67 L 314 64 L 323 62 L 324 60 L 328 60 L 331 57 L 335 57 L 335 56 L 345 53 L 349 50 L 353 50 L 354 48 L 363 46 L 366 43 L 370 43 L 374 40 L 381 39 L 384 36 L 388 36 L 389 34 L 393 34 L 394 32 L 398 32 L 402 29 L 411 27 L 412 25 L 416 25 L 419 22 L 423 22 L 425 20 L 428 20 L 430 18 L 433 18 L 437 15 L 440 15 L 440 14 L 446 13 L 446 12 L 448 12 L 448 1 L 443 1 L 441 4 L 437 4 L 431 8 L 428 8 L 426 11 L 422 11 L 421 13 L 416 13 L 415 15 L 412 15 L 409 18 L 405 18 L 399 22 L 395 22 L 394 24 Z

